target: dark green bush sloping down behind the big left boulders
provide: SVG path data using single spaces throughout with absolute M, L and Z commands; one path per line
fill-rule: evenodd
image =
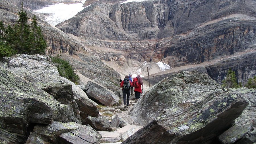
M 79 76 L 75 74 L 74 68 L 69 64 L 68 61 L 60 59 L 59 57 L 51 57 L 51 60 L 58 68 L 60 76 L 78 84 Z

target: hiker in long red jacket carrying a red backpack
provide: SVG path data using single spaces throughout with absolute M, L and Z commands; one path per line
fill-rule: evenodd
M 134 87 L 136 101 L 138 101 L 138 99 L 140 98 L 140 95 L 142 93 L 141 85 L 143 86 L 141 73 L 137 72 L 137 77 L 133 79 L 133 87 Z

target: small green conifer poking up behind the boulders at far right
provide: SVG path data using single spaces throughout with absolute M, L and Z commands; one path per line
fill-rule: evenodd
M 226 78 L 222 81 L 222 87 L 226 88 L 238 88 L 240 87 L 236 80 L 236 74 L 231 68 L 228 70 Z

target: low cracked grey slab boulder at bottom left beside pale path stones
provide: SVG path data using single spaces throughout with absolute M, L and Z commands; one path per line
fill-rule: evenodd
M 26 144 L 34 143 L 99 143 L 101 135 L 90 126 L 75 122 L 53 122 L 47 126 L 36 125 Z

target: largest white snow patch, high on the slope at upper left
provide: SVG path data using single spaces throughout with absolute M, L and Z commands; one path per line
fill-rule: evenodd
M 68 20 L 69 18 L 75 16 L 78 12 L 82 11 L 84 9 L 83 4 L 85 1 L 86 0 L 82 0 L 81 3 L 75 3 L 70 5 L 59 3 L 56 5 L 44 7 L 40 10 L 36 10 L 35 12 L 51 14 L 48 18 L 46 18 L 45 21 L 55 26 L 56 24 Z

